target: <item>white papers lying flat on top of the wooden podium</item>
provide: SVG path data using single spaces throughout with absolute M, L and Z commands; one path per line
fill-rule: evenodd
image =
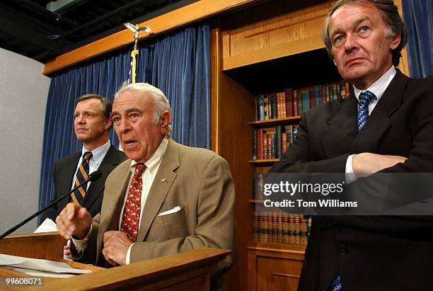
M 51 273 L 86 274 L 91 270 L 72 268 L 67 263 L 41 260 L 39 258 L 23 258 L 21 256 L 9 256 L 0 254 L 0 266 L 24 268 L 30 270 L 43 270 Z

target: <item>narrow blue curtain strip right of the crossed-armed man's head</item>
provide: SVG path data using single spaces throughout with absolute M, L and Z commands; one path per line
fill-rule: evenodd
M 433 75 L 433 1 L 403 0 L 403 18 L 408 28 L 410 76 Z

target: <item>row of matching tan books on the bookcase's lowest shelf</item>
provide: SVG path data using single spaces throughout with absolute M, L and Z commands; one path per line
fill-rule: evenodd
M 253 215 L 253 241 L 306 245 L 310 229 L 311 217 L 304 215 L 281 210 L 256 211 Z

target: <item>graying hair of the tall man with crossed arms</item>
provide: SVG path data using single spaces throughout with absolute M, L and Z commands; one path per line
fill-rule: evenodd
M 393 50 L 393 65 L 398 66 L 400 63 L 401 50 L 405 47 L 406 42 L 408 41 L 408 30 L 406 29 L 405 23 L 400 18 L 400 14 L 398 13 L 398 8 L 394 4 L 393 0 L 338 0 L 335 2 L 333 8 L 331 8 L 328 16 L 325 18 L 325 22 L 323 23 L 323 41 L 326 45 L 326 50 L 328 50 L 328 54 L 333 59 L 333 55 L 331 52 L 332 43 L 329 36 L 329 20 L 333 13 L 345 4 L 354 4 L 354 5 L 363 5 L 363 4 L 372 4 L 376 6 L 381 12 L 381 16 L 383 21 L 386 23 L 386 37 L 394 38 L 400 35 L 400 43 L 395 50 Z

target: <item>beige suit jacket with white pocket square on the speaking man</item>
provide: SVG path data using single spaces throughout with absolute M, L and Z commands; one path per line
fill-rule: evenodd
M 119 230 L 119 220 L 132 173 L 127 159 L 105 182 L 102 209 L 81 261 L 110 266 L 102 254 L 103 235 Z M 185 147 L 169 139 L 144 205 L 130 263 L 202 247 L 234 249 L 235 190 L 229 164 L 212 151 Z M 170 215 L 159 213 L 180 206 Z M 218 273 L 231 266 L 231 257 Z

